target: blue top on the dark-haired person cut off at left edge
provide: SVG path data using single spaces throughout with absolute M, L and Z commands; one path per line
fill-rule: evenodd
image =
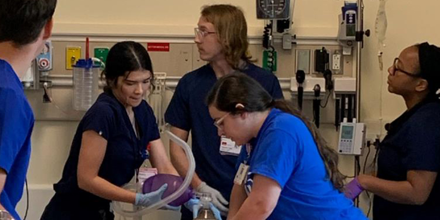
M 7 173 L 0 203 L 16 220 L 21 220 L 15 206 L 23 194 L 34 121 L 20 79 L 0 59 L 0 167 Z

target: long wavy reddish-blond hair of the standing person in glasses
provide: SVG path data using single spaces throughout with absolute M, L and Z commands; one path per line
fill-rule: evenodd
M 229 4 L 207 5 L 203 6 L 201 16 L 214 24 L 229 65 L 240 69 L 240 60 L 251 62 L 246 19 L 240 8 Z

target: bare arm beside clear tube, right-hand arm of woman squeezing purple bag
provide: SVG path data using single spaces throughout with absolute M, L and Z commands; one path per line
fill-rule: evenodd
M 150 162 L 153 167 L 157 168 L 160 174 L 178 175 L 176 169 L 171 164 L 170 159 L 165 151 L 165 146 L 160 139 L 150 142 Z

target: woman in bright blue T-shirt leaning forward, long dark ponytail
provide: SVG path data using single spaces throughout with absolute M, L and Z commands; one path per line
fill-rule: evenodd
M 365 220 L 339 190 L 338 155 L 316 128 L 252 78 L 230 74 L 207 97 L 219 135 L 243 145 L 228 220 Z

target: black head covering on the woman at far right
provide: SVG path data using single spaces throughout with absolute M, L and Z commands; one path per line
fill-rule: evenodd
M 427 42 L 418 45 L 420 77 L 428 81 L 431 92 L 440 88 L 440 48 Z

